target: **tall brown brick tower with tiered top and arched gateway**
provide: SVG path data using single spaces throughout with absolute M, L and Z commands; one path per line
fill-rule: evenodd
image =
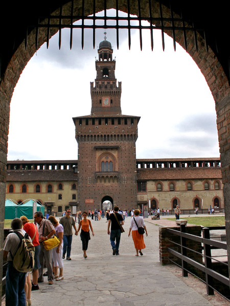
M 99 44 L 97 78 L 90 83 L 91 115 L 73 118 L 78 142 L 78 209 L 101 209 L 109 200 L 136 207 L 137 124 L 121 113 L 121 82 L 115 78 L 111 43 Z

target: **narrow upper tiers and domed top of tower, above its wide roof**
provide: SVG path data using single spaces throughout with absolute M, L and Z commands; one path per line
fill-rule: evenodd
M 105 36 L 99 44 L 98 60 L 95 62 L 95 87 L 94 82 L 90 83 L 91 115 L 121 115 L 121 82 L 117 86 L 116 61 L 112 58 L 112 53 L 111 43 Z

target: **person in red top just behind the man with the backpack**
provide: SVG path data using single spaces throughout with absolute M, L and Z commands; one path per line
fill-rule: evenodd
M 26 216 L 20 217 L 24 231 L 30 236 L 32 243 L 35 247 L 34 254 L 34 269 L 33 269 L 33 283 L 31 290 L 38 290 L 39 286 L 37 284 L 38 279 L 38 269 L 40 269 L 39 253 L 40 253 L 40 243 L 38 240 L 38 230 L 34 223 L 29 222 Z

